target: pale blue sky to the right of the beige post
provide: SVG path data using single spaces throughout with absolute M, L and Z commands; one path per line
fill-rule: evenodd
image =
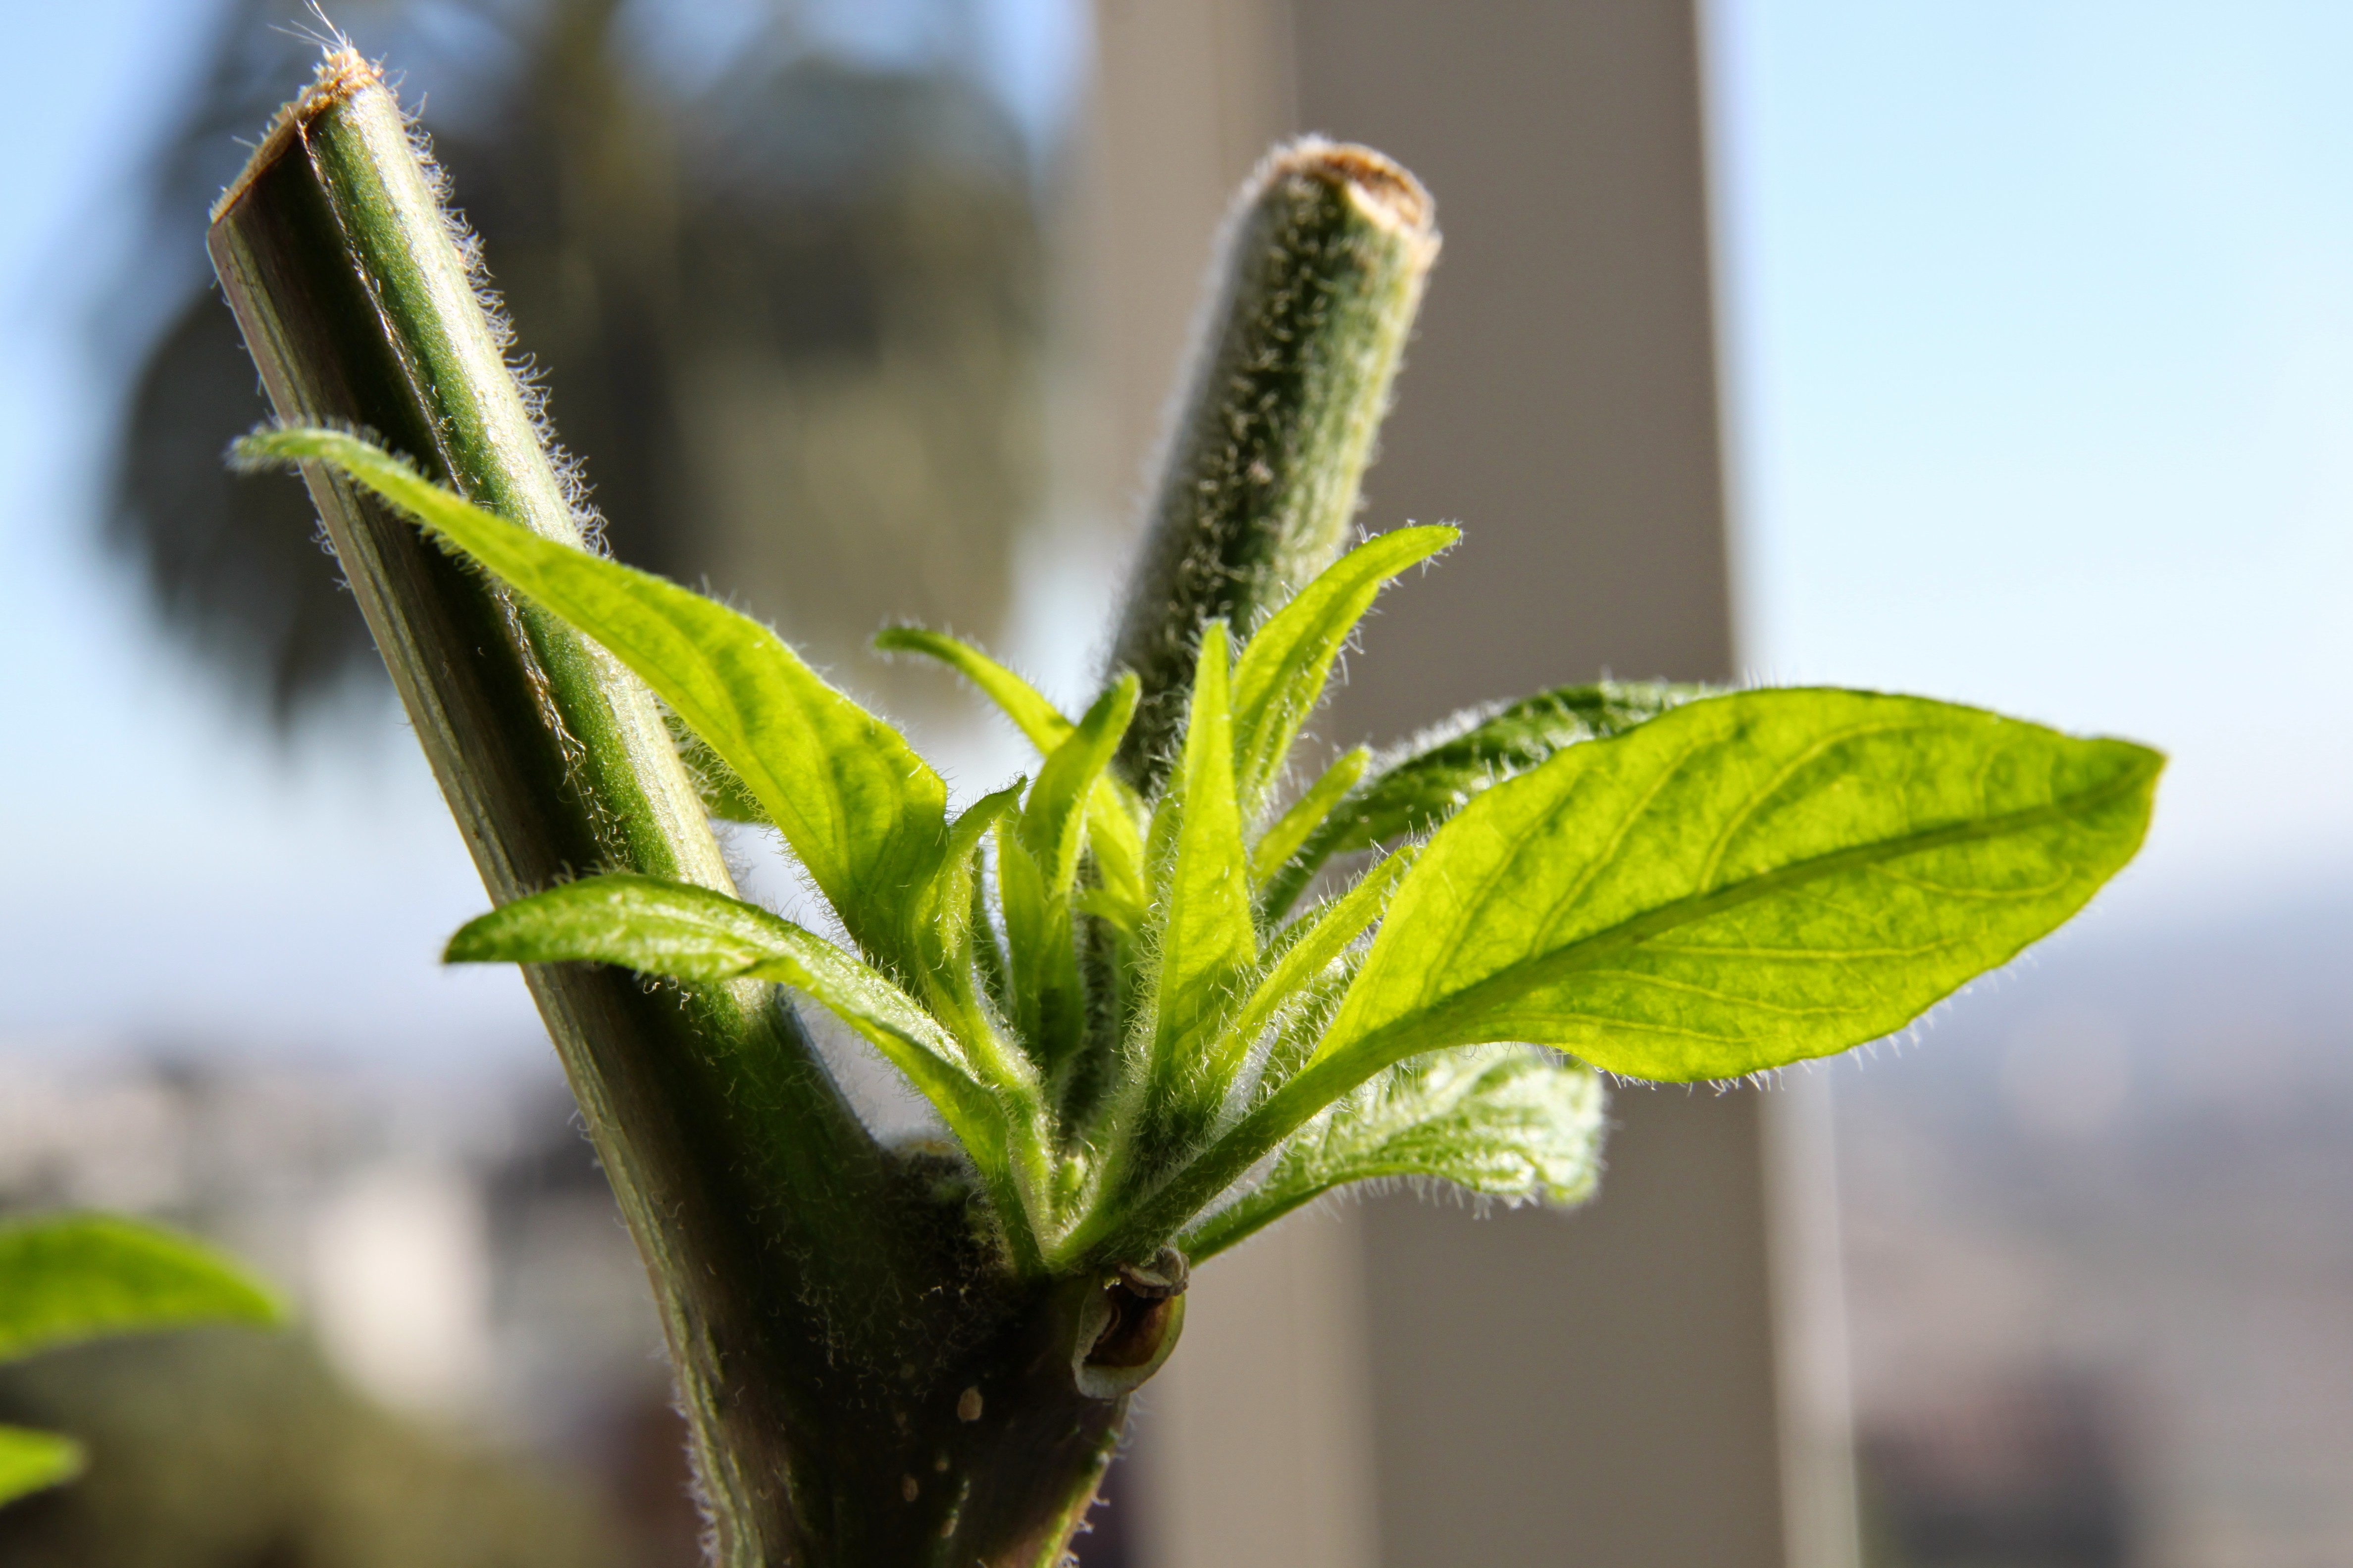
M 1718 0 L 1711 52 L 1753 670 L 2167 748 L 2113 917 L 2344 889 L 2353 9 Z

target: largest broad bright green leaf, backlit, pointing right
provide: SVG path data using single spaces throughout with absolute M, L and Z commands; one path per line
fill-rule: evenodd
M 2080 910 L 2160 766 L 1920 698 L 1687 703 L 1464 806 L 1301 1084 L 1494 1039 L 1666 1081 L 1859 1046 Z

